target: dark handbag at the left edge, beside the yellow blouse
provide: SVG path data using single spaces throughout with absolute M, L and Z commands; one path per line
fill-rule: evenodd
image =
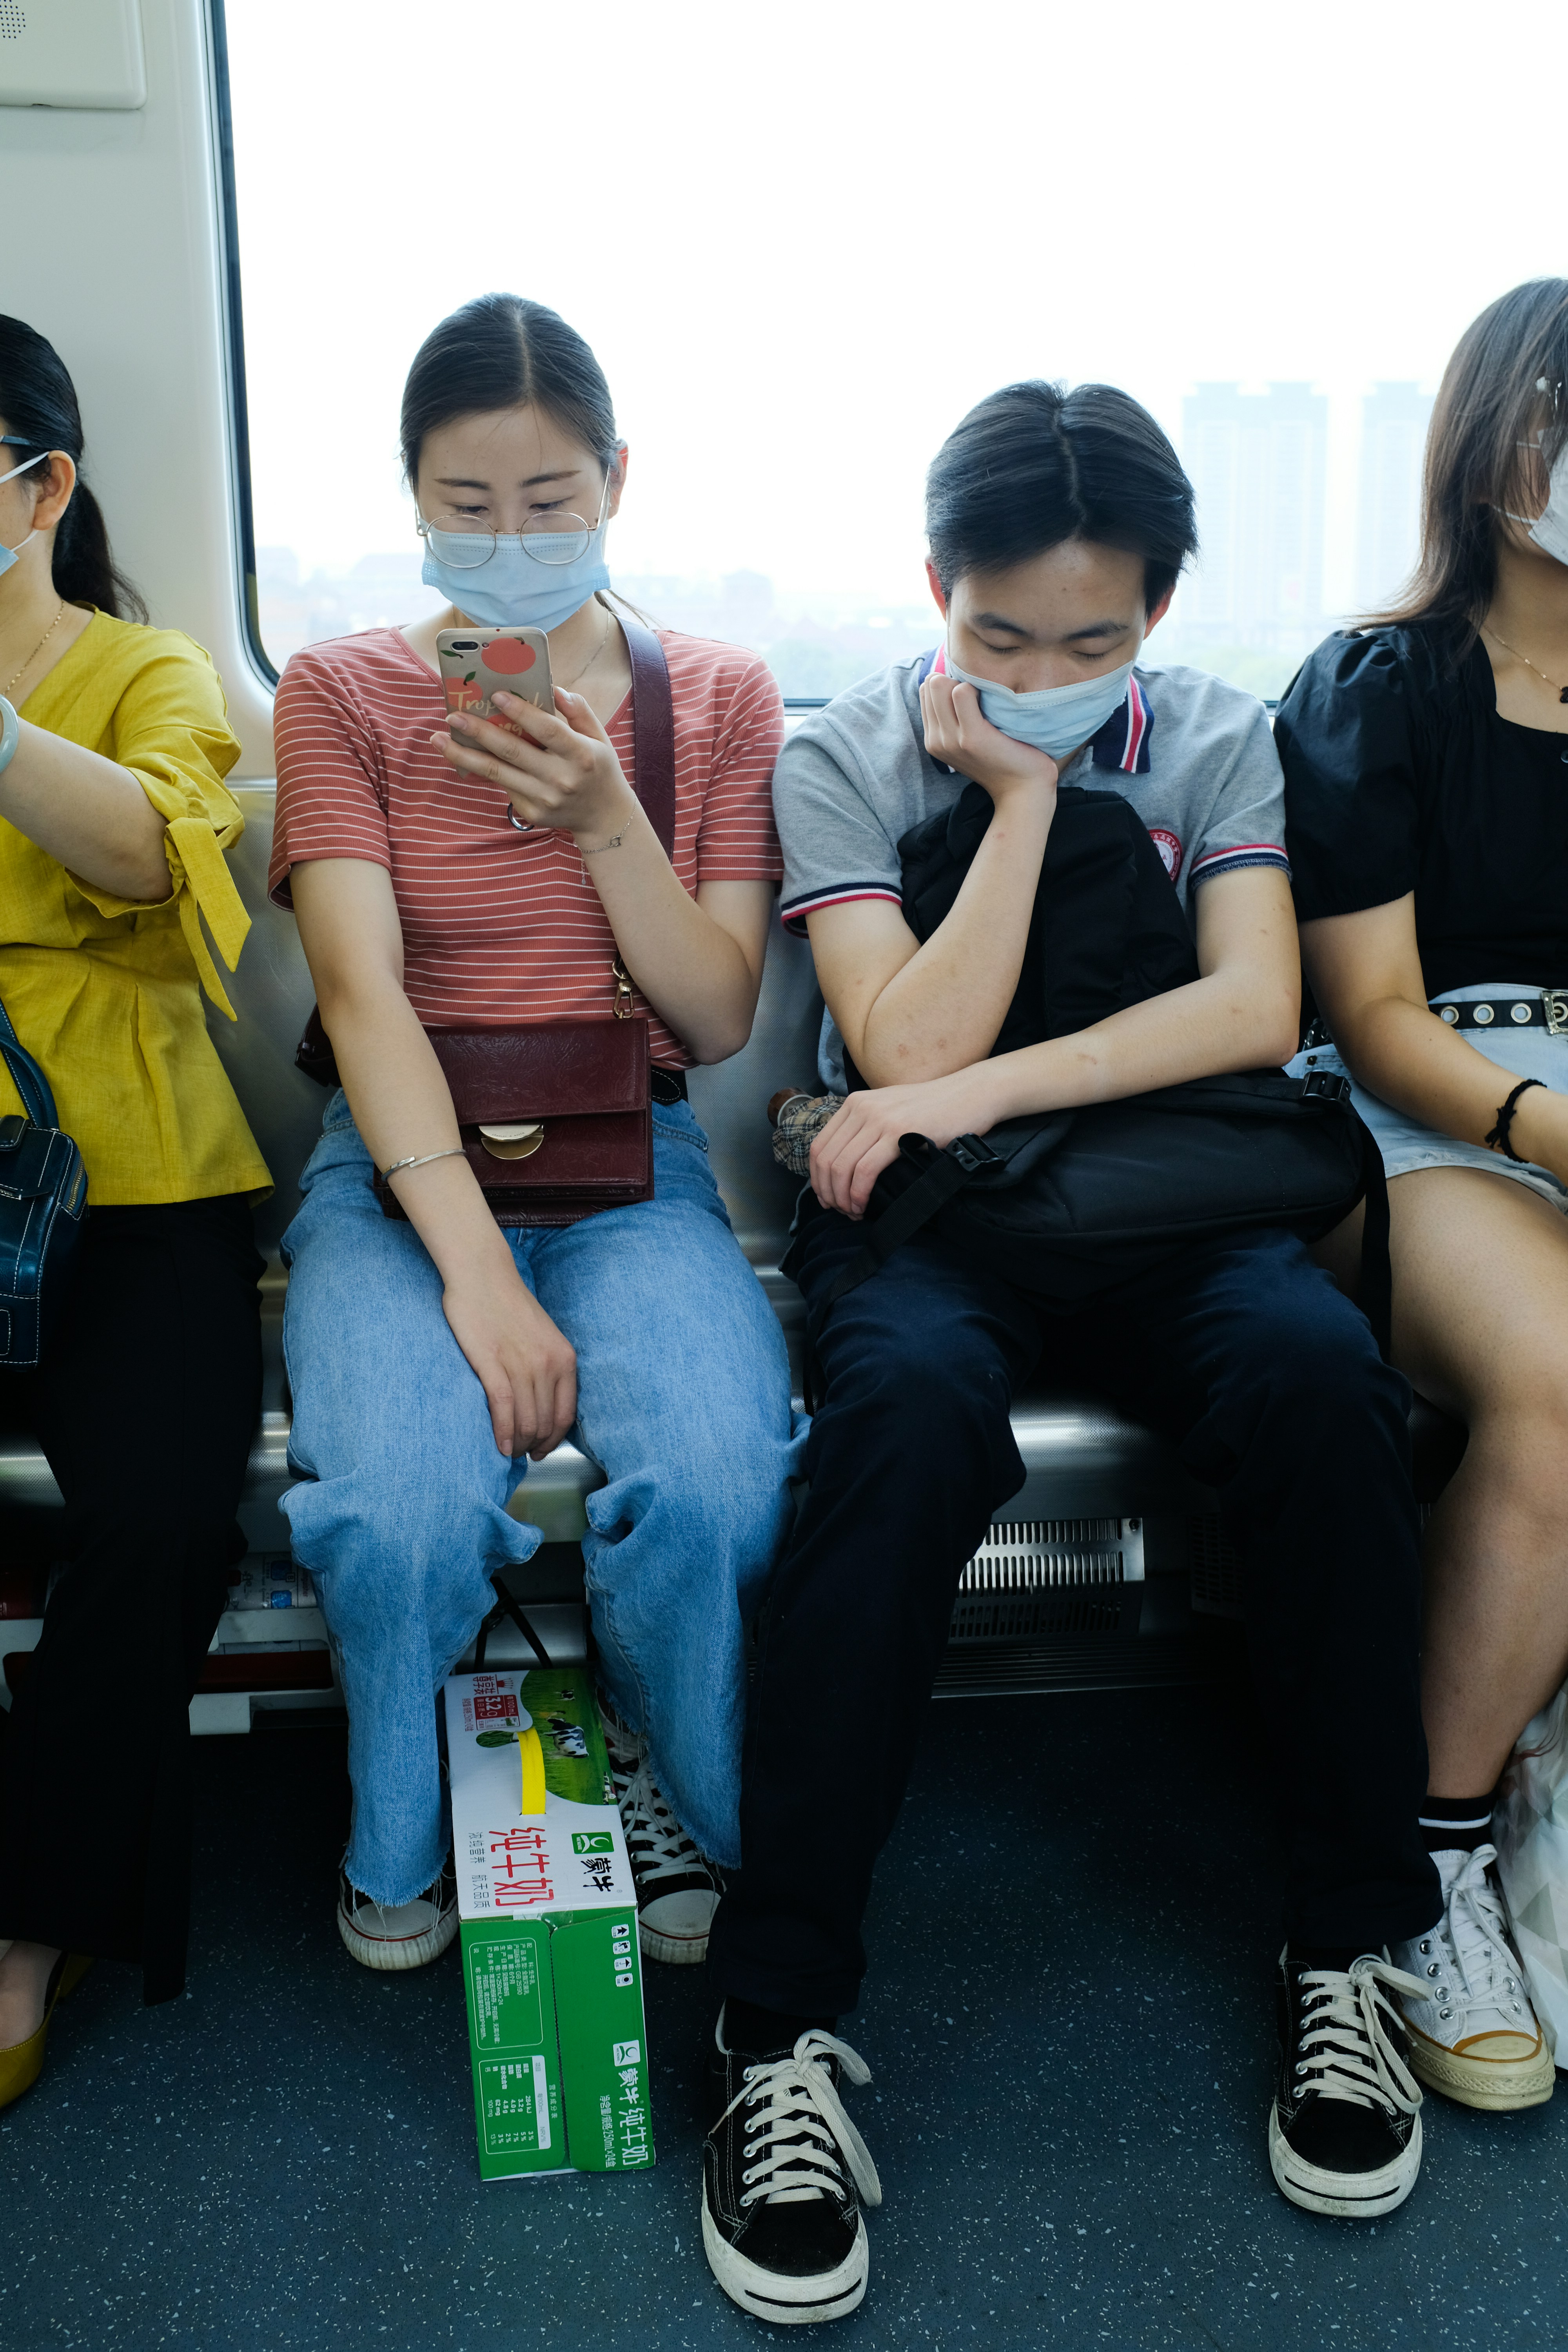
M 38 1362 L 71 1282 L 87 1216 L 87 1169 L 61 1134 L 49 1080 L 0 1004 L 0 1056 L 26 1115 L 0 1120 L 0 1369 Z

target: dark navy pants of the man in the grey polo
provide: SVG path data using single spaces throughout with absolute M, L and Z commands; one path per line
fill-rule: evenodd
M 809 1305 L 858 1247 L 846 1218 L 811 1218 L 790 1261 Z M 743 1867 L 710 1940 L 719 1992 L 853 2009 L 872 1865 L 959 1573 L 1023 1484 L 1009 1406 L 1041 1355 L 1175 1437 L 1222 1494 L 1284 1790 L 1291 1940 L 1378 1947 L 1439 1917 L 1418 1830 L 1410 1392 L 1359 1310 L 1284 1232 L 1187 1251 L 1063 1319 L 922 1235 L 820 1334 L 811 1494 L 759 1628 Z M 802 1693 L 813 1722 L 853 1726 L 846 1745 L 802 1733 Z

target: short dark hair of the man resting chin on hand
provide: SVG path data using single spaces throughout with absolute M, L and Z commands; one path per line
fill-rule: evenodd
M 1009 383 L 971 409 L 931 459 L 926 536 L 943 595 L 1067 539 L 1126 548 L 1150 612 L 1199 543 L 1175 449 L 1114 383 Z

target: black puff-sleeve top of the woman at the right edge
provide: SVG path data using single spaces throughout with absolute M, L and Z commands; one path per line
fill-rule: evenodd
M 1568 734 L 1497 717 L 1493 666 L 1415 623 L 1335 635 L 1279 706 L 1300 922 L 1415 891 L 1427 995 L 1568 988 Z

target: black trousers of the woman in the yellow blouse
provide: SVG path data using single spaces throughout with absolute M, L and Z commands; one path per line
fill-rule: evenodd
M 66 1498 L 61 1559 L 0 1757 L 0 1936 L 186 1983 L 190 1693 L 244 1555 L 261 1414 L 244 1195 L 92 1209 L 35 1371 L 0 1374 Z

